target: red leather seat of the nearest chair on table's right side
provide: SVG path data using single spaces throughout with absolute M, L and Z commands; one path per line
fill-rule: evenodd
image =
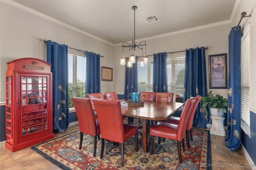
M 177 129 L 178 125 L 160 121 L 150 128 L 150 135 L 176 140 Z

